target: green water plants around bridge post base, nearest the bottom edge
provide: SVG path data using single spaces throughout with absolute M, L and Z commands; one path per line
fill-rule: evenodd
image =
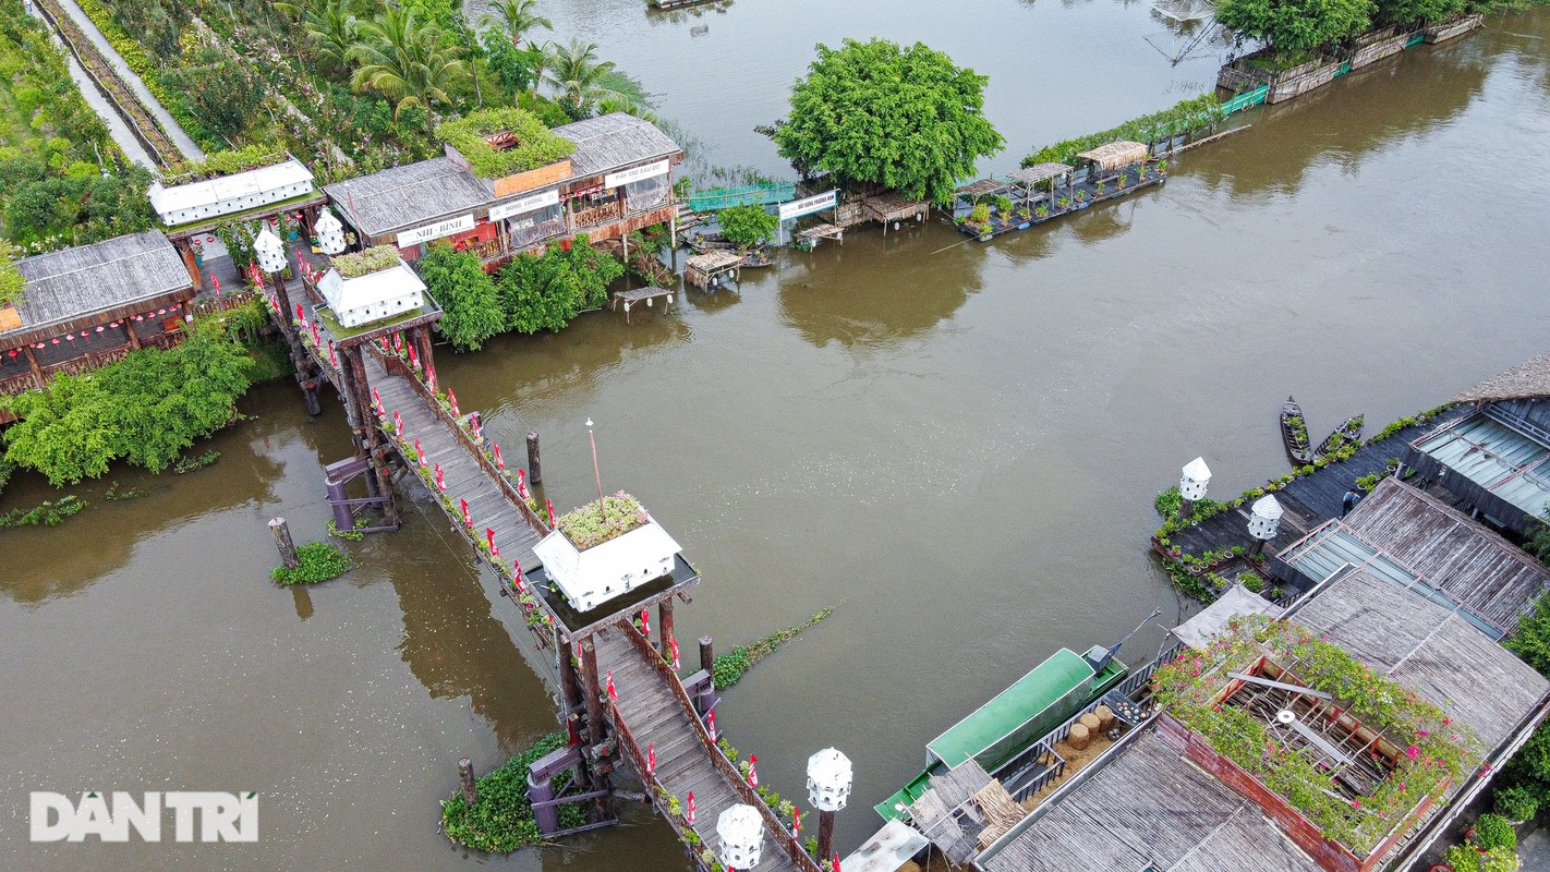
M 519 847 L 541 844 L 542 835 L 533 821 L 533 805 L 527 799 L 527 771 L 542 756 L 566 747 L 563 733 L 544 736 L 532 748 L 516 754 L 507 764 L 474 781 L 479 801 L 471 807 L 463 795 L 454 793 L 442 801 L 442 830 L 454 843 L 490 853 L 510 853 Z M 555 788 L 569 781 L 567 774 L 555 778 Z M 575 802 L 560 807 L 561 827 L 586 824 L 586 810 Z

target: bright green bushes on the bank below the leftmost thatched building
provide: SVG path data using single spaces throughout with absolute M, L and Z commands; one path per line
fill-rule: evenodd
M 54 486 L 99 477 L 115 460 L 161 471 L 232 420 L 251 372 L 246 350 L 212 324 L 170 350 L 56 376 L 40 392 L 3 400 L 20 417 L 5 432 L 6 458 Z

